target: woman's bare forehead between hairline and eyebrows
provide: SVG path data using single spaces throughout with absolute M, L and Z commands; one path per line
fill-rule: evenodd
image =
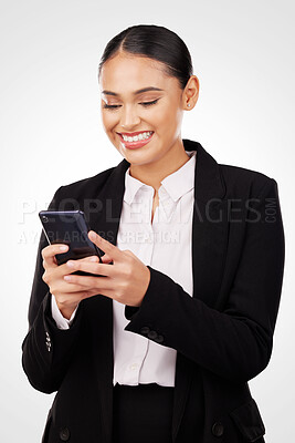
M 107 60 L 102 68 L 101 89 L 122 93 L 144 86 L 167 89 L 178 84 L 178 80 L 168 75 L 165 68 L 165 64 L 157 60 L 118 53 Z

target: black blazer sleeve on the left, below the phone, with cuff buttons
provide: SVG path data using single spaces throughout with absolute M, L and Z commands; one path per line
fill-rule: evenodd
M 49 206 L 57 205 L 60 189 Z M 36 265 L 29 306 L 29 332 L 22 343 L 22 367 L 30 383 L 39 391 L 57 391 L 71 362 L 82 324 L 82 307 L 77 308 L 69 330 L 56 327 L 51 313 L 51 293 L 42 280 L 42 249 L 48 240 L 42 231 L 36 255 Z

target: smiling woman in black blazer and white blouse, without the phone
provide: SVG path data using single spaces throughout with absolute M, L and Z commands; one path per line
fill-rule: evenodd
M 50 205 L 84 210 L 105 255 L 57 266 L 66 246 L 41 236 L 23 368 L 57 391 L 43 442 L 264 442 L 247 381 L 268 363 L 282 289 L 277 184 L 181 138 L 199 82 L 168 29 L 112 39 L 99 85 L 124 159 Z

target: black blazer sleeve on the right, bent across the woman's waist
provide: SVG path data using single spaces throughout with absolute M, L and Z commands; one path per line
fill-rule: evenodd
M 231 381 L 249 381 L 259 374 L 272 353 L 285 258 L 277 184 L 272 178 L 255 199 L 256 214 L 265 214 L 267 198 L 276 202 L 275 217 L 246 223 L 240 262 L 222 310 L 191 297 L 149 267 L 150 282 L 141 306 L 125 308 L 130 320 L 125 330 L 173 348 Z

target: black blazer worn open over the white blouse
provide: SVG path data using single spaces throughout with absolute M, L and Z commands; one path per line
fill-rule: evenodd
M 247 381 L 268 363 L 284 269 L 277 184 L 264 174 L 221 165 L 199 144 L 192 230 L 193 297 L 150 269 L 139 308 L 125 308 L 126 330 L 177 350 L 173 442 L 264 442 Z M 116 244 L 129 163 L 57 189 L 50 205 L 81 208 L 89 226 Z M 39 391 L 57 391 L 43 442 L 110 443 L 113 300 L 80 303 L 73 326 L 56 328 L 42 280 L 41 235 L 23 368 Z M 155 333 L 156 332 L 156 333 Z M 161 336 L 161 337 L 160 337 Z M 51 343 L 51 347 L 48 343 Z

